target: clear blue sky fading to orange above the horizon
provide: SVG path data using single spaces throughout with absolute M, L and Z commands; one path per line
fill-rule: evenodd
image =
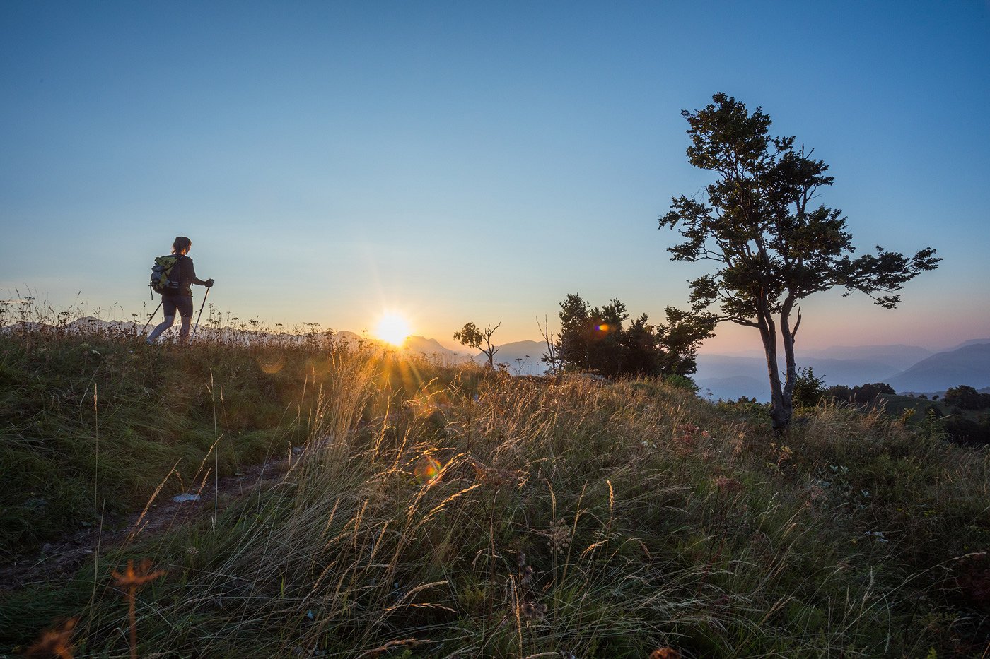
M 657 217 L 710 180 L 680 110 L 717 91 L 816 148 L 860 248 L 944 258 L 896 311 L 812 297 L 799 346 L 990 336 L 986 0 L 5 0 L 0 296 L 128 318 L 188 235 L 209 302 L 269 324 L 659 320 L 700 269 Z

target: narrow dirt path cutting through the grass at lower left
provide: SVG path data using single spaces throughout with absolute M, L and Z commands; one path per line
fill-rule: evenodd
M 144 512 L 139 511 L 120 518 L 104 518 L 100 528 L 76 531 L 44 544 L 41 551 L 18 556 L 0 566 L 0 595 L 31 584 L 64 581 L 66 576 L 75 573 L 93 553 L 97 542 L 100 550 L 105 551 L 124 543 L 132 536 L 137 537 L 140 534 L 140 537 L 148 537 L 167 532 L 176 524 L 212 515 L 215 500 L 218 507 L 216 510 L 224 510 L 248 493 L 281 479 L 290 459 L 284 457 L 269 460 L 263 464 L 244 467 L 237 475 L 221 477 L 215 487 L 208 483 L 192 493 L 199 496 L 197 501 L 176 503 L 172 497 L 161 498 L 159 495 Z

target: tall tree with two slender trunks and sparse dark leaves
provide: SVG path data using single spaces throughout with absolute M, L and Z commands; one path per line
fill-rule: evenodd
M 695 312 L 717 307 L 719 322 L 759 330 L 770 377 L 773 427 L 790 423 L 797 369 L 794 339 L 801 325 L 796 304 L 836 286 L 860 291 L 893 309 L 893 292 L 941 260 L 926 247 L 911 257 L 877 246 L 852 257 L 852 236 L 838 209 L 814 204 L 819 188 L 832 185 L 828 165 L 794 138 L 771 138 L 760 108 L 726 94 L 696 112 L 683 111 L 691 145 L 688 161 L 715 173 L 707 199 L 671 199 L 659 228 L 677 229 L 684 241 L 668 247 L 676 261 L 713 261 L 715 269 L 689 283 Z M 777 329 L 784 349 L 784 381 L 777 359 Z

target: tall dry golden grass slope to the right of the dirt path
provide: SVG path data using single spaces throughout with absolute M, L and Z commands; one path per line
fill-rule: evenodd
M 324 357 L 277 484 L 10 607 L 58 602 L 76 656 L 123 656 L 110 571 L 147 557 L 143 656 L 984 649 L 990 578 L 960 557 L 990 543 L 986 453 L 842 408 L 774 435 L 656 382 Z

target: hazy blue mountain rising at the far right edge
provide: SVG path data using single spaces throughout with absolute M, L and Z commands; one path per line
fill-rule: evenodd
M 885 382 L 896 391 L 943 391 L 960 384 L 986 387 L 990 385 L 990 342 L 938 352 Z

